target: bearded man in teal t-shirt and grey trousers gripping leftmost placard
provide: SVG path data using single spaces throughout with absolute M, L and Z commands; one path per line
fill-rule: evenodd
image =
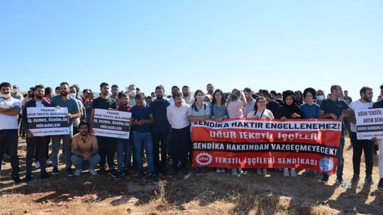
M 70 144 L 72 143 L 73 138 L 73 120 L 79 118 L 80 108 L 77 100 L 69 96 L 69 84 L 67 82 L 62 82 L 60 84 L 60 94 L 54 96 L 51 99 L 51 107 L 57 108 L 67 108 L 68 114 L 66 117 L 69 119 L 69 134 L 65 135 L 52 135 L 52 166 L 53 171 L 52 175 L 58 175 L 59 169 L 59 148 L 60 148 L 60 140 L 62 138 L 62 145 L 65 150 L 65 169 L 67 176 L 73 176 L 72 170 L 70 166 L 72 166 L 72 162 L 70 160 L 72 156 L 72 150 Z

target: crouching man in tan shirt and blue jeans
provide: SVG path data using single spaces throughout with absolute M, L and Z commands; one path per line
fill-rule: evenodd
M 97 138 L 88 132 L 88 123 L 80 122 L 79 133 L 74 135 L 72 140 L 72 163 L 76 168 L 75 176 L 81 174 L 83 167 L 88 167 L 90 174 L 97 175 L 95 167 L 101 157 L 98 154 Z

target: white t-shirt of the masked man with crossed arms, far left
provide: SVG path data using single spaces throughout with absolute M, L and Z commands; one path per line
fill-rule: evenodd
M 19 106 L 21 108 L 21 102 L 19 99 L 14 99 L 12 97 L 8 100 L 4 100 L 3 97 L 0 97 L 0 106 L 9 106 L 11 108 Z M 3 129 L 18 129 L 17 115 L 8 116 L 0 113 L 0 130 Z

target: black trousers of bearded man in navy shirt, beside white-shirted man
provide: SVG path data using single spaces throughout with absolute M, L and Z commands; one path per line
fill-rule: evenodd
M 166 133 L 152 132 L 152 139 L 153 139 L 154 172 L 159 173 L 161 169 L 166 168 L 168 132 Z M 160 162 L 160 149 L 161 149 L 161 162 Z

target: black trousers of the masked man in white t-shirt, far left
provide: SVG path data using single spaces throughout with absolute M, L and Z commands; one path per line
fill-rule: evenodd
M 4 149 L 7 147 L 8 154 L 11 157 L 12 178 L 19 175 L 19 156 L 17 155 L 18 135 L 17 129 L 0 130 L 0 158 L 3 160 Z M 0 165 L 0 170 L 1 170 Z

